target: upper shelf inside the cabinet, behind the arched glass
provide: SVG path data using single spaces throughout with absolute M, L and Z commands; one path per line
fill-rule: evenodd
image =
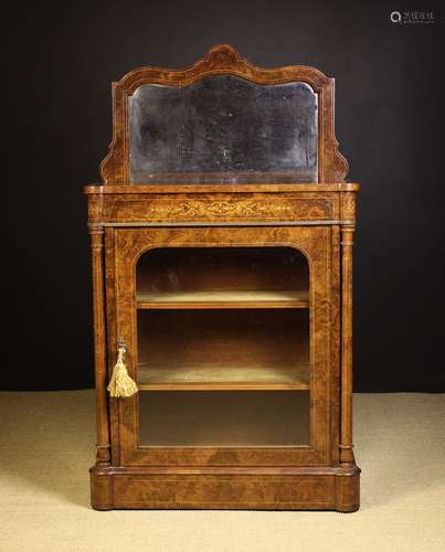
M 233 308 L 308 308 L 305 290 L 224 290 L 139 293 L 138 309 L 233 309 Z

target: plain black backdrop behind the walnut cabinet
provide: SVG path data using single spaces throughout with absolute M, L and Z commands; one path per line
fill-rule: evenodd
M 414 9 L 433 10 L 435 24 L 390 22 Z M 445 391 L 438 4 L 36 2 L 7 28 L 2 389 L 94 385 L 82 188 L 98 180 L 112 138 L 112 81 L 141 65 L 182 68 L 229 42 L 257 65 L 336 77 L 337 138 L 362 183 L 356 391 Z

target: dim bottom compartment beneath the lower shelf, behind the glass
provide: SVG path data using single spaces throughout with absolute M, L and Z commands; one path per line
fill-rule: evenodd
M 308 446 L 308 391 L 142 391 L 140 446 Z

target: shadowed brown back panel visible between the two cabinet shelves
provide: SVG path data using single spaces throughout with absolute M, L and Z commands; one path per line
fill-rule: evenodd
M 307 309 L 139 310 L 139 364 L 289 365 L 309 361 Z

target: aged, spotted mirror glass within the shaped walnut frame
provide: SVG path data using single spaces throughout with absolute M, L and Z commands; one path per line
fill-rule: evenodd
M 306 83 L 213 75 L 129 98 L 130 183 L 318 181 L 318 102 Z

